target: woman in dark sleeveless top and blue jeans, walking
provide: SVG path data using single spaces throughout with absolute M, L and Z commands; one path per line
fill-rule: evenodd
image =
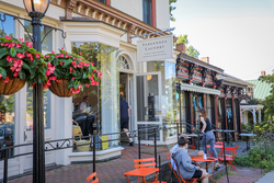
M 206 150 L 206 145 L 210 144 L 210 149 L 215 158 L 218 159 L 218 155 L 215 149 L 215 136 L 212 130 L 212 123 L 209 122 L 209 118 L 207 117 L 207 112 L 205 108 L 199 110 L 199 121 L 203 124 L 202 133 L 205 135 L 202 138 L 202 147 L 204 152 L 208 156 L 207 150 Z M 216 161 L 215 169 L 219 168 L 218 160 Z

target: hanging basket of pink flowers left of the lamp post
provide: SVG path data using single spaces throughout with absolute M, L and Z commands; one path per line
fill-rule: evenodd
M 0 37 L 0 94 L 14 94 L 25 82 L 32 87 L 46 83 L 48 67 L 32 45 L 22 38 Z

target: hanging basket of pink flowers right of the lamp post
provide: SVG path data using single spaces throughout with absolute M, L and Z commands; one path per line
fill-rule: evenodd
M 46 88 L 60 98 L 69 98 L 83 91 L 83 85 L 99 85 L 102 73 L 93 62 L 87 61 L 81 53 L 59 52 L 45 56 L 48 68 L 54 67 L 54 72 L 47 75 Z

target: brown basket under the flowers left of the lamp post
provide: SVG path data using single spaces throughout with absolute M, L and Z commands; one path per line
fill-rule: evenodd
M 0 80 L 0 94 L 9 95 L 20 91 L 25 85 L 25 81 L 20 78 L 12 78 L 8 82 L 7 80 Z

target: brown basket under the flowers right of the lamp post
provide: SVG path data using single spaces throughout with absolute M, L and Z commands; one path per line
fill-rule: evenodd
M 70 89 L 67 88 L 68 80 L 60 80 L 59 82 L 54 82 L 48 87 L 50 92 L 60 98 L 70 98 L 76 95 L 77 93 L 72 93 Z

